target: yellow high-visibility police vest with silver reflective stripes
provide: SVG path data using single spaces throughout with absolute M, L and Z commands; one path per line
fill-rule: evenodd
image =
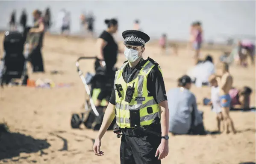
M 118 96 L 118 91 L 115 87 L 115 101 L 116 101 L 116 123 L 121 128 L 130 128 L 130 109 L 139 109 L 140 114 L 140 126 L 150 125 L 153 123 L 153 120 L 157 117 L 160 118 L 160 106 L 156 103 L 153 96 L 148 96 L 147 92 L 147 76 L 155 66 L 153 62 L 149 60 L 144 64 L 143 68 L 141 68 L 138 77 L 132 80 L 129 83 L 124 81 L 122 76 L 123 69 L 127 65 L 128 62 L 124 63 L 124 65 L 116 71 L 115 74 L 115 84 L 122 85 L 122 97 Z M 161 71 L 160 67 L 159 71 Z M 162 73 L 162 71 L 161 71 Z M 132 96 L 131 102 L 125 102 L 125 93 L 128 86 L 133 85 L 134 83 L 134 93 Z

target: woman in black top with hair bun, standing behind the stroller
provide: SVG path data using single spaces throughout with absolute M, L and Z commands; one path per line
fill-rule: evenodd
M 101 67 L 106 65 L 106 80 L 110 79 L 110 81 L 113 81 L 110 83 L 114 84 L 115 71 L 113 70 L 113 68 L 115 63 L 117 62 L 118 52 L 122 52 L 118 50 L 118 45 L 112 36 L 112 34 L 114 34 L 118 29 L 118 21 L 116 19 L 111 19 L 105 20 L 105 23 L 108 25 L 108 28 L 100 34 L 100 37 L 97 40 L 97 58 L 103 61 L 100 62 Z M 95 103 L 96 106 L 100 106 L 100 103 L 103 99 L 108 100 L 111 96 L 112 86 L 106 87 L 106 80 L 103 80 L 104 84 L 102 84 L 101 92 L 97 98 L 97 102 Z

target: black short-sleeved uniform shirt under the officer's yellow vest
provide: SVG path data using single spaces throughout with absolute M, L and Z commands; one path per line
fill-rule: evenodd
M 148 59 L 146 60 L 141 59 L 141 61 L 138 62 L 138 64 L 135 67 L 132 67 L 132 68 L 129 67 L 129 64 L 127 64 L 124 67 L 124 70 L 122 73 L 124 81 L 128 83 L 134 80 L 136 77 L 138 77 L 139 71 L 141 70 L 143 65 L 146 64 L 147 61 Z M 149 75 L 147 76 L 147 90 L 148 90 L 148 96 L 153 96 L 156 103 L 159 104 L 160 102 L 167 100 L 167 96 L 166 96 L 165 83 L 164 83 L 163 76 L 158 69 L 158 66 L 157 66 L 158 64 L 157 63 L 154 63 L 154 64 L 156 65 L 153 67 L 153 69 L 150 71 Z M 112 94 L 109 99 L 109 102 L 112 105 L 115 105 L 116 103 L 114 87 L 112 89 Z

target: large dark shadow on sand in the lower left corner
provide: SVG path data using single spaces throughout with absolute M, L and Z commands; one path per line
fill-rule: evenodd
M 19 156 L 20 153 L 35 153 L 50 147 L 46 140 L 9 132 L 5 124 L 0 124 L 0 145 L 0 160 Z

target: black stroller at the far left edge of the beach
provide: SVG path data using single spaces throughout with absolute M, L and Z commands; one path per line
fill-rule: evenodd
M 12 79 L 21 79 L 19 85 L 26 85 L 28 79 L 26 59 L 23 55 L 24 37 L 17 31 L 6 32 L 3 41 L 3 68 L 0 70 L 0 85 L 8 85 Z

